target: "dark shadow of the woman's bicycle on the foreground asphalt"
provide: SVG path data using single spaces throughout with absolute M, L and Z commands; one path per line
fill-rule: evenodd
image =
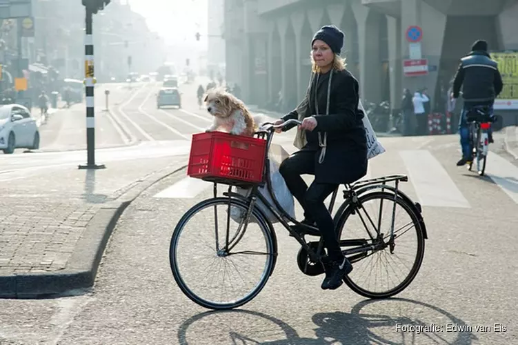
M 390 302 L 390 308 L 383 308 L 383 302 Z M 372 309 L 370 312 L 363 311 L 367 306 Z M 388 311 L 393 311 L 394 315 L 387 315 Z M 401 314 L 412 314 L 412 316 L 403 316 Z M 410 311 L 410 312 L 409 312 Z M 375 312 L 375 313 L 373 313 Z M 377 312 L 380 312 L 379 314 Z M 383 312 L 383 313 L 381 313 Z M 433 316 L 429 316 L 433 315 Z M 212 320 L 202 320 L 210 318 Z M 214 318 L 217 318 L 215 320 Z M 239 332 L 237 328 L 241 328 L 244 322 L 250 320 L 245 325 L 255 329 L 254 335 L 247 335 Z M 315 338 L 300 337 L 295 328 L 292 328 L 281 319 L 259 313 L 257 311 L 232 310 L 232 311 L 207 311 L 194 315 L 181 324 L 178 331 L 179 344 L 193 345 L 196 340 L 188 341 L 188 333 L 200 334 L 203 332 L 204 339 L 219 339 L 221 341 L 221 332 L 218 335 L 208 334 L 208 328 L 204 327 L 203 331 L 189 330 L 197 322 L 200 324 L 218 324 L 223 328 L 227 326 L 228 335 L 223 335 L 231 342 L 225 344 L 260 344 L 260 345 L 317 345 L 317 344 L 423 344 L 423 342 L 434 344 L 472 344 L 473 340 L 478 338 L 473 334 L 475 328 L 463 329 L 468 326 L 464 321 L 451 315 L 441 308 L 426 304 L 424 302 L 414 301 L 412 299 L 390 298 L 385 300 L 368 299 L 359 302 L 352 307 L 350 313 L 337 311 L 335 313 L 317 313 L 312 316 L 312 322 L 315 324 Z M 270 326 L 266 329 L 263 324 L 267 322 Z M 272 324 L 275 328 L 272 329 Z M 430 326 L 435 324 L 442 326 L 442 331 L 405 331 L 397 329 L 397 325 L 402 326 Z M 446 325 L 456 326 L 456 330 L 447 332 Z M 250 325 L 252 325 L 250 327 Z M 202 327 L 202 325 L 193 328 Z M 384 332 L 377 331 L 378 328 L 384 328 Z M 262 332 L 259 333 L 261 330 Z M 279 335 L 281 331 L 283 335 L 279 340 L 260 341 L 257 340 L 259 335 Z M 390 334 L 390 339 L 385 339 L 381 334 Z M 219 337 L 218 337 L 219 336 Z M 214 338 L 213 338 L 214 337 Z

